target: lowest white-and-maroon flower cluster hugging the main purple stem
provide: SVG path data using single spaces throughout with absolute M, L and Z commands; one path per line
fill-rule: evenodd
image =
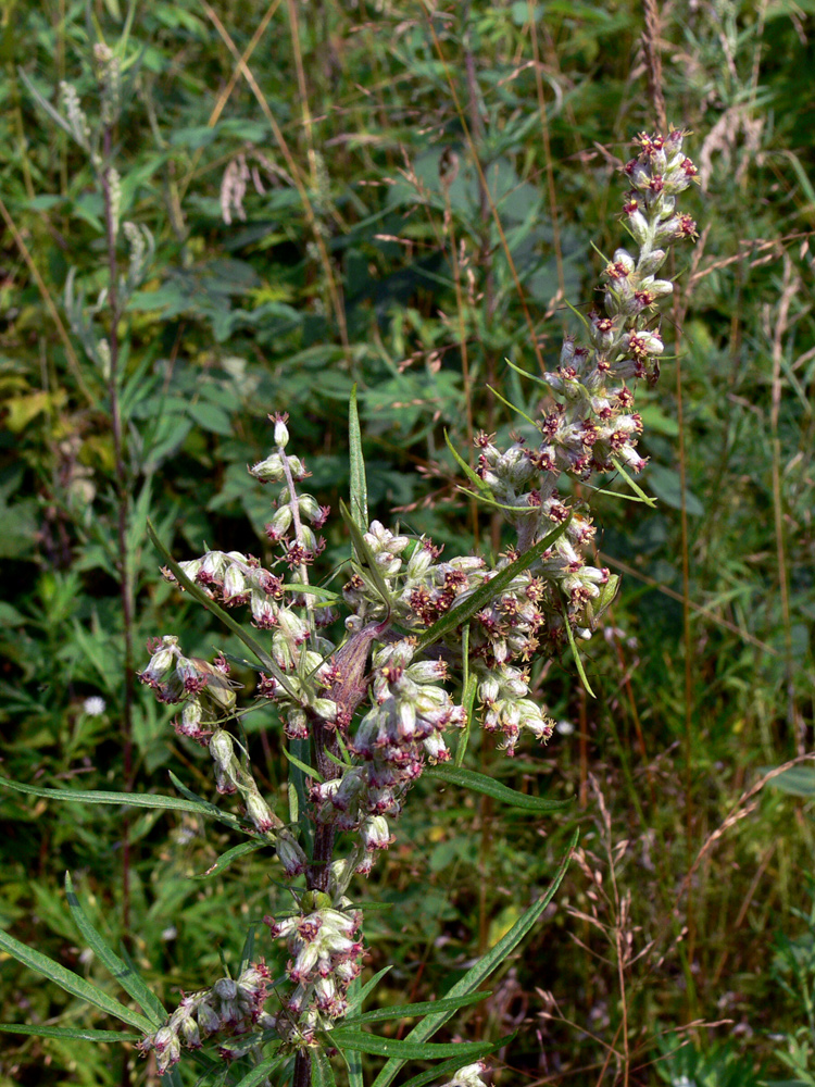
M 283 921 L 265 916 L 272 936 L 287 940 L 286 967 L 294 989 L 275 1016 L 278 1036 L 292 1048 L 314 1046 L 316 1032 L 346 1014 L 348 987 L 362 969 L 358 910 L 335 909 L 328 895 L 308 892 L 301 912 Z

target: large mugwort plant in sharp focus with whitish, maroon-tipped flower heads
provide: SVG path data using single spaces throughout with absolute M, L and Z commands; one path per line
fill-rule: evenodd
M 75 117 L 70 96 L 64 100 Z M 559 482 L 564 475 L 585 482 L 614 471 L 637 473 L 644 465 L 634 389 L 637 380 L 659 375 L 659 305 L 673 290 L 670 279 L 661 278 L 668 251 L 695 236 L 693 221 L 677 210 L 697 174 L 685 154 L 686 135 L 673 129 L 636 140 L 624 167 L 623 221 L 632 251 L 620 248 L 606 263 L 603 308 L 589 314 L 585 341 L 567 336 L 559 364 L 539 378 L 547 396 L 534 440 L 518 437 L 501 448 L 493 435 L 479 434 L 475 470 L 454 452 L 472 497 L 500 511 L 513 532 L 512 545 L 496 559 L 447 554 L 426 537 L 371 520 L 355 400 L 350 501 L 339 510 L 351 540 L 341 590 L 330 590 L 315 573 L 331 511 L 303 489 L 309 473 L 292 449 L 285 414 L 269 416 L 271 451 L 249 468 L 271 490 L 271 559 L 211 549 L 176 562 L 151 529 L 167 580 L 218 615 L 254 655 L 251 704 L 274 707 L 291 765 L 281 814 L 259 787 L 236 728 L 251 705 L 239 704 L 230 678 L 235 660 L 190 657 L 172 633 L 150 642 L 139 678 L 176 709 L 176 732 L 208 749 L 216 792 L 236 800 L 225 812 L 179 784 L 184 800 L 177 805 L 215 812 L 254 846 L 273 850 L 274 877 L 289 883 L 293 903 L 263 919 L 266 954 L 277 959 L 271 949 L 286 948 L 279 976 L 265 955 L 246 955 L 237 976 L 184 995 L 170 1014 L 129 967 L 118 969 L 125 964 L 114 952 L 100 950 L 101 938 L 78 904 L 72 907 L 91 946 L 140 1004 L 143 1015 L 128 1013 L 125 1021 L 143 1030 L 141 1052 L 171 1083 L 181 1082 L 178 1065 L 189 1058 L 199 1074 L 241 1087 L 329 1084 L 341 1067 L 330 1058 L 340 1054 L 348 1082 L 359 1087 L 360 1054 L 367 1052 L 388 1058 L 374 1087 L 390 1084 L 414 1058 L 443 1058 L 436 1071 L 448 1076 L 447 1087 L 484 1084 L 484 1058 L 505 1040 L 444 1046 L 427 1039 L 479 999 L 475 990 L 540 916 L 568 858 L 549 892 L 443 998 L 388 1010 L 391 1019 L 419 1019 L 401 1041 L 362 1029 L 386 1017 L 362 1011 L 379 978 L 361 980 L 362 879 L 394 841 L 411 786 L 423 774 L 532 810 L 557 807 L 513 794 L 465 770 L 463 761 L 475 727 L 492 734 L 509 757 L 522 744 L 549 739 L 554 723 L 532 697 L 531 671 L 569 647 L 579 661 L 577 644 L 591 637 L 615 595 L 617 578 L 592 563 L 590 510 L 567 500 Z M 126 799 L 156 807 L 165 798 Z M 66 983 L 62 967 L 46 966 L 10 937 L 3 941 Z M 410 1080 L 428 1082 L 426 1073 Z

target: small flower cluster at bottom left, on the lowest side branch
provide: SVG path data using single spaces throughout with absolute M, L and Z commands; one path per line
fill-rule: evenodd
M 209 989 L 187 994 L 167 1022 L 143 1038 L 139 1048 L 142 1053 L 155 1051 L 159 1075 L 180 1060 L 183 1047 L 200 1049 L 215 1036 L 220 1036 L 218 1052 L 224 1059 L 243 1057 L 256 1045 L 252 1032 L 274 1026 L 273 1017 L 263 1010 L 268 979 L 268 969 L 261 959 L 237 979 L 222 977 Z

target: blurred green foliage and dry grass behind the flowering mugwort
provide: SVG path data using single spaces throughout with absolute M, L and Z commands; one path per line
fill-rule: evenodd
M 806 1044 L 815 771 L 803 762 L 739 798 L 813 747 L 814 12 L 812 0 L 662 12 L 667 117 L 694 133 L 702 238 L 676 267 L 687 315 L 670 336 L 665 318 L 678 359 L 638 392 L 640 483 L 659 503 L 592 498 L 602 561 L 625 574 L 607 637 L 587 650 L 597 699 L 554 661 L 539 677 L 564 723 L 549 747 L 513 763 L 474 752 L 514 788 L 574 796 L 573 813 L 539 825 L 423 782 L 371 879 L 391 907 L 368 921 L 372 970 L 393 965 L 380 999 L 428 999 L 523 912 L 581 826 L 556 910 L 450 1035 L 519 1026 L 500 1084 L 751 1084 L 788 1075 L 782 1055 Z M 267 496 L 246 465 L 266 451 L 273 410 L 290 413 L 310 489 L 337 510 L 354 383 L 372 512 L 460 552 L 500 549 L 498 524 L 456 491 L 443 432 L 465 457 L 478 429 L 509 436 L 515 420 L 487 386 L 535 411 L 506 360 L 551 366 L 578 328 L 565 302 L 592 297 L 591 243 L 609 254 L 624 240 L 616 167 L 654 126 L 643 10 L 9 0 L 0 20 L 0 773 L 166 791 L 173 770 L 209 796 L 206 760 L 142 691 L 124 758 L 110 405 L 64 307 L 72 270 L 86 304 L 106 282 L 102 202 L 24 77 L 48 101 L 70 79 L 92 113 L 90 46 L 129 25 L 123 217 L 156 242 L 120 328 L 143 666 L 156 634 L 201 655 L 235 648 L 160 580 L 147 514 L 179 558 L 204 541 L 260 551 Z M 227 224 L 228 168 L 246 192 Z M 330 566 L 338 518 L 328 537 Z M 89 696 L 101 716 L 84 711 Z M 279 730 L 261 715 L 247 727 L 275 796 Z M 208 984 L 267 908 L 255 854 L 200 878 L 231 842 L 195 819 L 130 817 L 127 903 L 121 813 L 0 791 L 0 824 L 2 927 L 100 984 L 65 869 L 114 944 L 129 929 L 168 1003 Z M 790 946 L 798 958 L 778 951 Z M 103 1023 L 12 960 L 0 976 L 2 1022 Z M 722 1022 L 680 1029 L 698 1021 Z M 2 1087 L 153 1082 L 131 1053 L 3 1042 Z M 799 1057 L 794 1082 L 815 1082 Z

